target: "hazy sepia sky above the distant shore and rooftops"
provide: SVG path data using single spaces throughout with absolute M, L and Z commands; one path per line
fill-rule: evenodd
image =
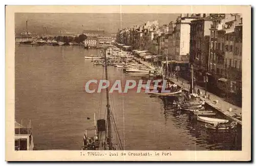
M 128 14 L 128 13 L 15 13 L 15 33 L 26 30 L 42 34 L 47 27 L 48 34 L 77 34 L 83 30 L 105 30 L 116 33 L 118 29 L 142 25 L 146 21 L 158 20 L 160 26 L 175 21 L 180 14 Z

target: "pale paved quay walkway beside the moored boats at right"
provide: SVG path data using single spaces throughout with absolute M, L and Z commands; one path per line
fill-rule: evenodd
M 178 86 L 182 87 L 183 90 L 185 90 L 185 91 L 189 90 L 189 83 L 187 80 L 182 79 L 182 78 L 179 78 L 178 81 L 176 78 L 169 78 L 169 80 L 174 82 Z M 183 84 L 182 84 L 182 82 L 183 82 Z M 226 102 L 223 98 L 220 98 L 220 97 L 216 96 L 215 94 L 210 93 L 208 91 L 207 91 L 207 94 L 210 95 L 210 99 L 204 98 L 205 89 L 203 87 L 197 85 L 196 89 L 198 89 L 198 88 L 200 89 L 200 92 L 202 92 L 202 94 L 203 94 L 203 96 L 199 96 L 201 100 L 205 101 L 206 104 L 208 104 L 212 108 L 216 109 L 217 111 L 221 112 L 223 115 L 225 115 L 229 119 L 236 121 L 238 124 L 240 124 L 242 126 L 242 121 L 233 117 L 233 115 L 242 113 L 241 107 L 232 105 L 232 104 Z M 213 102 L 217 101 L 217 100 L 218 100 L 218 103 L 214 104 Z M 232 108 L 231 112 L 229 111 L 229 108 Z

